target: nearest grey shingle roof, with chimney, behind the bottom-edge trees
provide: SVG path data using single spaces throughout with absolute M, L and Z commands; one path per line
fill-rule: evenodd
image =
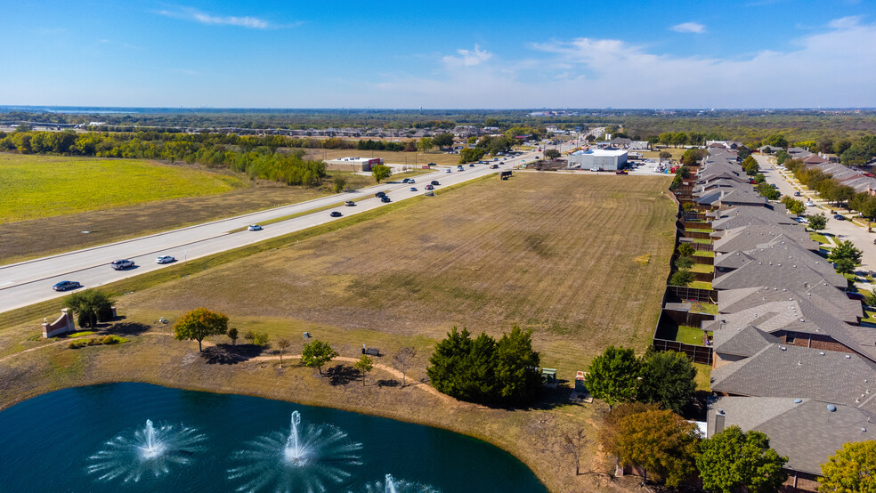
M 739 426 L 769 437 L 769 446 L 788 457 L 786 469 L 821 475 L 827 462 L 849 441 L 876 439 L 876 416 L 864 409 L 829 401 L 794 398 L 713 397 L 708 400 L 707 435 L 718 430 L 718 410 L 724 428 Z

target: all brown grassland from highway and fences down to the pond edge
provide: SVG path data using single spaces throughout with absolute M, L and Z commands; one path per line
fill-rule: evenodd
M 112 327 L 129 342 L 117 346 L 68 350 L 65 341 L 39 340 L 38 322 L 56 307 L 0 319 L 0 408 L 108 381 L 242 392 L 465 432 L 514 453 L 552 491 L 631 489 L 637 480 L 612 479 L 612 459 L 596 445 L 582 457 L 587 473 L 574 475 L 562 436 L 584 429 L 595 440 L 606 406 L 570 404 L 568 386 L 532 408 L 484 408 L 435 397 L 423 385 L 400 389 L 380 368 L 363 387 L 320 377 L 293 357 L 282 369 L 262 360 L 217 364 L 199 356 L 197 343 L 173 341 L 170 325 L 157 320 L 172 324 L 207 306 L 228 314 L 241 332 L 288 337 L 291 354 L 300 352 L 304 331 L 347 358 L 363 343 L 386 354 L 410 345 L 418 350 L 409 373 L 415 382 L 425 378 L 432 347 L 450 327 L 498 335 L 520 324 L 535 330 L 542 364 L 568 382 L 608 344 L 643 352 L 650 343 L 672 250 L 675 208 L 662 191 L 668 184 L 653 177 L 491 177 L 392 204 L 368 220 L 345 218 L 348 225 L 320 227 L 318 236 L 265 242 L 212 268 L 174 266 L 159 285 L 138 287 L 133 278 L 125 292 L 134 292 L 117 303 L 125 319 Z M 338 375 L 349 374 L 344 368 L 338 364 Z

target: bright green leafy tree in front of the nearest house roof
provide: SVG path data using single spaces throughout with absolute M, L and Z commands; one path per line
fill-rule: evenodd
M 788 457 L 769 448 L 764 433 L 743 433 L 735 425 L 700 442 L 696 457 L 702 489 L 712 493 L 778 491 L 788 479 L 782 469 L 786 462 Z

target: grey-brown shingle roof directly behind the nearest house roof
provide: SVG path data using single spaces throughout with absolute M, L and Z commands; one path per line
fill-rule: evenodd
M 857 354 L 773 343 L 750 358 L 713 369 L 711 389 L 749 397 L 825 400 L 873 412 L 876 364 Z

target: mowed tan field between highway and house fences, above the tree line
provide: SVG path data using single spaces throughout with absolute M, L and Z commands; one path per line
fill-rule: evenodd
M 476 182 L 122 304 L 134 319 L 205 306 L 299 339 L 303 327 L 434 340 L 453 326 L 498 335 L 518 324 L 535 329 L 546 366 L 571 370 L 609 344 L 650 343 L 672 250 L 667 185 L 530 173 Z

